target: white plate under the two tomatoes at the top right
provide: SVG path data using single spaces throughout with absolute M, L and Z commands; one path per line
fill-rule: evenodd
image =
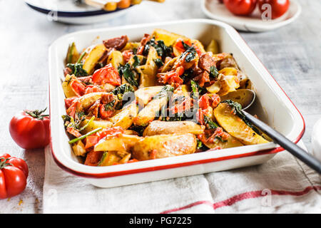
M 295 0 L 290 0 L 290 7 L 280 18 L 263 21 L 260 16 L 258 6 L 251 16 L 235 16 L 224 4 L 220 4 L 218 0 L 202 0 L 201 8 L 206 16 L 211 19 L 223 21 L 234 28 L 241 31 L 269 31 L 280 28 L 295 21 L 301 13 L 301 6 Z

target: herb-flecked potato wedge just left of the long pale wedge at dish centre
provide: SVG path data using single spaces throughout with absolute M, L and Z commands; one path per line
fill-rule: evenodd
M 113 127 L 118 126 L 123 129 L 127 129 L 133 124 L 133 118 L 136 117 L 137 113 L 138 107 L 136 105 L 136 102 L 133 102 L 123 108 L 123 110 L 121 110 L 121 113 L 114 115 L 109 120 L 113 123 Z

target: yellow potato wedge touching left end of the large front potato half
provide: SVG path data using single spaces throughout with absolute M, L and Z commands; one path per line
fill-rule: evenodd
M 137 135 L 107 135 L 101 139 L 94 147 L 94 151 L 130 151 L 131 147 L 141 140 Z

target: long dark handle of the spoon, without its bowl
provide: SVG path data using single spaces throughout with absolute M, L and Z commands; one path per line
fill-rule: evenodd
M 300 159 L 302 162 L 305 162 L 305 164 L 307 164 L 313 170 L 321 174 L 321 162 L 319 160 L 305 152 L 305 150 L 302 150 L 302 148 L 298 147 L 295 143 L 285 138 L 284 135 L 278 133 L 276 130 L 266 125 L 261 120 L 258 120 L 258 118 L 255 118 L 253 115 L 250 115 L 245 111 L 243 111 L 243 113 L 246 119 L 250 121 L 250 123 L 253 123 L 253 125 L 262 130 L 263 133 L 269 136 L 274 142 Z

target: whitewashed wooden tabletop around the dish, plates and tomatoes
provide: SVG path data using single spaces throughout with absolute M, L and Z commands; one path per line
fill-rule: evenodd
M 19 110 L 46 107 L 48 48 L 56 38 L 87 28 L 205 18 L 198 0 L 146 4 L 157 6 L 154 10 L 159 14 L 147 14 L 142 19 L 130 12 L 103 24 L 73 26 L 46 20 L 24 1 L 0 0 L 0 154 L 24 157 L 29 165 L 26 190 L 1 200 L 0 214 L 42 212 L 44 150 L 21 149 L 11 139 L 8 126 Z M 241 35 L 302 113 L 306 123 L 303 141 L 310 148 L 312 126 L 321 118 L 321 2 L 301 0 L 300 4 L 302 14 L 293 24 L 275 31 Z

